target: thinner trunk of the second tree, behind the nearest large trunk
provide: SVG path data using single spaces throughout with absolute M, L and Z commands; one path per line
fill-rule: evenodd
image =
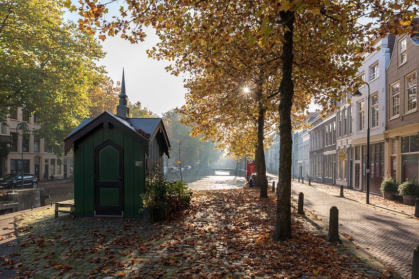
M 265 164 L 265 153 L 264 153 L 264 131 L 265 131 L 265 110 L 259 109 L 257 116 L 257 153 L 259 159 L 259 186 L 261 187 L 261 199 L 268 198 L 268 180 L 266 179 L 266 164 Z

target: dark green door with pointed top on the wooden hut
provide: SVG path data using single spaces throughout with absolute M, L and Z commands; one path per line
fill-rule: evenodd
M 95 149 L 95 216 L 123 216 L 123 150 L 108 140 Z

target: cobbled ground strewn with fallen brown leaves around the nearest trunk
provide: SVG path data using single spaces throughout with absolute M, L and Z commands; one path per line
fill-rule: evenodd
M 294 238 L 272 241 L 275 196 L 258 188 L 195 191 L 192 206 L 162 224 L 53 218 L 53 209 L 16 219 L 21 277 L 362 278 L 384 277 L 293 213 Z M 21 267 L 19 267 L 21 268 Z M 387 274 L 386 274 L 387 275 Z

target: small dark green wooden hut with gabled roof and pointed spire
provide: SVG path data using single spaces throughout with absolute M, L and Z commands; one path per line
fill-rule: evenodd
M 75 216 L 142 217 L 147 173 L 163 167 L 170 143 L 161 118 L 130 118 L 124 72 L 116 115 L 82 121 L 64 140 L 74 151 Z

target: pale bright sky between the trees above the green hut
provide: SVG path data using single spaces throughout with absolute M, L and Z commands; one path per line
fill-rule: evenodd
M 66 19 L 78 20 L 76 13 L 65 14 Z M 103 44 L 107 52 L 99 65 L 105 66 L 113 81 L 121 81 L 122 69 L 125 69 L 125 87 L 131 102 L 140 101 L 147 109 L 162 115 L 185 103 L 186 89 L 183 77 L 167 73 L 168 61 L 157 61 L 149 58 L 146 50 L 158 42 L 152 29 L 146 30 L 147 37 L 143 42 L 131 44 L 119 36 L 108 37 Z

